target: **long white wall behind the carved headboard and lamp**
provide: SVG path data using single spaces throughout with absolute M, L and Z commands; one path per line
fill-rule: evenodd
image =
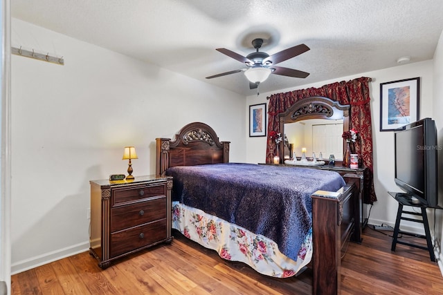
M 89 180 L 155 173 L 155 138 L 204 122 L 244 162 L 245 97 L 12 19 L 12 273 L 89 248 Z M 240 127 L 240 128 L 239 128 Z

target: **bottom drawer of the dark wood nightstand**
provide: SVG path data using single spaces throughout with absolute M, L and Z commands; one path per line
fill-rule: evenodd
M 110 256 L 115 257 L 125 252 L 150 245 L 167 238 L 166 218 L 140 225 L 125 231 L 111 234 Z

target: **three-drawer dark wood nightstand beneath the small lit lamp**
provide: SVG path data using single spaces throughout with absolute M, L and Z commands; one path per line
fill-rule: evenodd
M 89 253 L 102 268 L 112 260 L 171 242 L 171 177 L 91 180 Z

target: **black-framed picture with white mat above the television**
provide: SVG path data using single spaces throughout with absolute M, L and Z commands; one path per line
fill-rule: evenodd
M 420 78 L 380 83 L 380 131 L 419 120 Z

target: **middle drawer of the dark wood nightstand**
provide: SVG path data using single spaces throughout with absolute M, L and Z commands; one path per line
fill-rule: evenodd
M 111 209 L 111 232 L 166 218 L 166 196 Z

